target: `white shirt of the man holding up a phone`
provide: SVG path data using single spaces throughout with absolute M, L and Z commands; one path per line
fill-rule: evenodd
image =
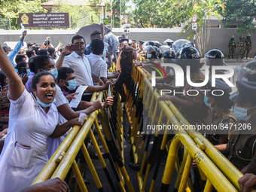
M 93 86 L 92 72 L 87 56 L 84 55 L 82 58 L 73 51 L 69 56 L 65 56 L 63 67 L 70 67 L 74 70 L 78 85 L 85 84 Z

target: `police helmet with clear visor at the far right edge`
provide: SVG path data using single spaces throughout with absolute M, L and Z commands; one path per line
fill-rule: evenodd
M 239 81 L 240 79 L 245 81 L 256 82 L 256 60 L 253 59 L 247 62 L 244 66 L 236 67 L 233 75 L 233 82 Z

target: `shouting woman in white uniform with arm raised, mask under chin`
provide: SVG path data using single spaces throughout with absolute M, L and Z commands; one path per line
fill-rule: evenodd
M 59 115 L 51 105 L 55 79 L 49 72 L 35 75 L 29 94 L 1 45 L 0 69 L 8 78 L 11 101 L 8 135 L 0 156 L 0 191 L 20 191 L 32 184 L 47 163 L 47 136 L 62 136 L 81 123 L 74 119 L 58 126 Z

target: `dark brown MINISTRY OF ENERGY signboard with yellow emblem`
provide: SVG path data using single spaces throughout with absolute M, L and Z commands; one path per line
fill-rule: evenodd
M 69 13 L 19 14 L 19 17 L 25 28 L 69 28 Z

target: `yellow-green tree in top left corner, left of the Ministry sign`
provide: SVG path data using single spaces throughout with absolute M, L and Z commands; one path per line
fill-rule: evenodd
M 11 20 L 11 29 L 20 29 L 20 13 L 41 13 L 42 2 L 46 0 L 0 0 L 0 15 Z

